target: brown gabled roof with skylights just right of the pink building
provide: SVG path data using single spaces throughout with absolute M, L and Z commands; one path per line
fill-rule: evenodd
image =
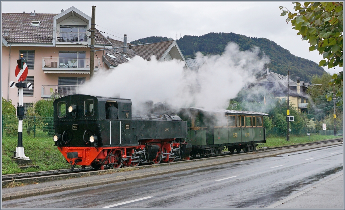
M 134 46 L 134 44 L 127 43 L 127 36 L 124 35 L 124 42 L 115 39 L 107 38 L 112 47 Z M 175 40 L 156 42 L 152 44 L 135 46 L 131 48 L 119 48 L 115 50 L 106 50 L 103 61 L 107 68 L 115 68 L 121 63 L 126 63 L 135 56 L 140 56 L 145 60 L 151 60 L 151 56 L 156 56 L 157 61 L 169 61 L 177 59 L 185 62 L 185 69 L 189 69 L 186 60 L 181 53 Z

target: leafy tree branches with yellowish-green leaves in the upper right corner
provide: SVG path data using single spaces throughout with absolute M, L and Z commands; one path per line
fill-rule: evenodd
M 299 2 L 294 9 L 296 13 L 283 10 L 281 16 L 288 14 L 286 22 L 291 22 L 293 29 L 302 35 L 302 40 L 309 40 L 309 51 L 318 50 L 322 54 L 323 60 L 319 66 L 343 67 L 343 2 Z M 327 61 L 326 61 L 327 59 Z M 343 71 L 333 74 L 329 85 L 343 83 Z M 343 89 L 336 90 L 339 97 L 337 106 L 343 105 Z M 333 98 L 333 92 L 326 95 L 327 101 Z

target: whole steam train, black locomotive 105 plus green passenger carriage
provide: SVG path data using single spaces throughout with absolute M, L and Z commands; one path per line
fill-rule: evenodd
M 107 119 L 109 104 L 117 119 Z M 132 113 L 129 99 L 76 94 L 56 99 L 53 140 L 72 166 L 95 169 L 172 162 L 189 156 L 255 151 L 266 142 L 265 113 L 182 108 L 148 101 L 143 114 Z

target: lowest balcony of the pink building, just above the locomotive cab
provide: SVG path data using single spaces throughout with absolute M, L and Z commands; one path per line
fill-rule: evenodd
M 83 86 L 78 85 L 42 85 L 42 98 L 50 98 L 55 91 L 60 96 L 69 96 L 72 94 L 79 94 L 79 89 Z

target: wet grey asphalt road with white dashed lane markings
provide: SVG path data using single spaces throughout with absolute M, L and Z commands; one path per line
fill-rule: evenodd
M 343 146 L 330 146 L 9 200 L 2 208 L 265 208 L 341 170 Z

